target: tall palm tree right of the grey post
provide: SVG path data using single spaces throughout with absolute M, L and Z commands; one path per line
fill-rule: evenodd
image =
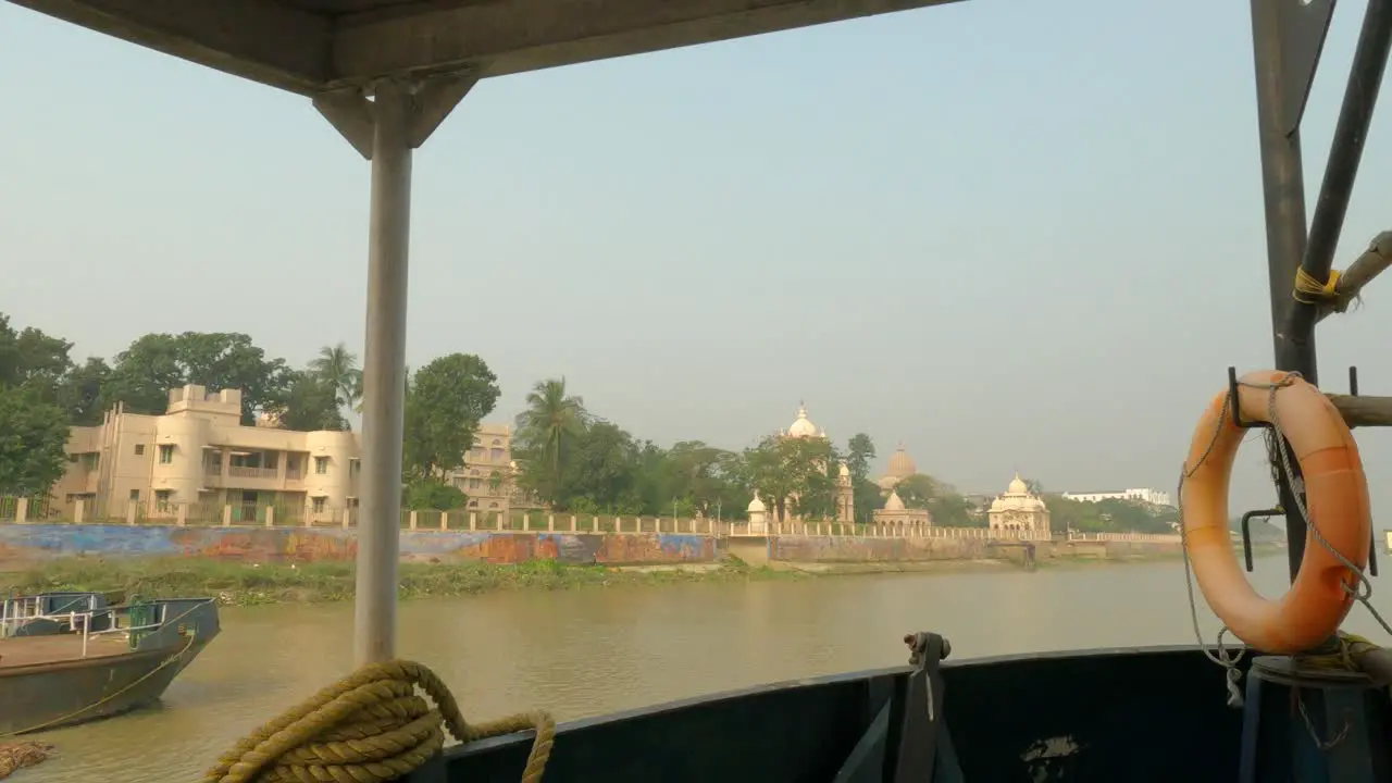
M 514 443 L 522 453 L 519 482 L 553 506 L 562 500 L 565 451 L 585 432 L 585 400 L 565 392 L 565 379 L 539 380 L 516 417 Z

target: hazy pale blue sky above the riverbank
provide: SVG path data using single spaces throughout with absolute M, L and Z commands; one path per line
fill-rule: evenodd
M 1363 3 L 1304 125 L 1313 203 Z M 0 312 L 110 357 L 235 330 L 361 352 L 369 166 L 308 99 L 0 3 Z M 1384 109 L 1385 120 L 1386 109 Z M 1375 121 L 1339 248 L 1386 224 Z M 658 443 L 799 401 L 965 492 L 1173 490 L 1272 364 L 1246 3 L 972 0 L 479 84 L 416 153 L 408 357 L 565 376 Z M 1321 327 L 1392 394 L 1392 290 Z M 1392 284 L 1392 283 L 1389 283 Z M 1374 507 L 1392 440 L 1360 431 Z M 1253 443 L 1235 513 L 1272 500 Z

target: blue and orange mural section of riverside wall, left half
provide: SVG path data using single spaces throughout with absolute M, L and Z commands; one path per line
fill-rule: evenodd
M 0 525 L 0 568 L 74 555 L 245 561 L 352 560 L 354 528 L 195 528 L 171 525 Z M 703 563 L 715 539 L 690 534 L 401 531 L 406 560 L 523 563 Z

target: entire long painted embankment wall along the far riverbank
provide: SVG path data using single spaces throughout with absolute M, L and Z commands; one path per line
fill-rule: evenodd
M 402 529 L 406 561 L 486 561 L 515 564 L 557 560 L 568 564 L 711 563 L 729 553 L 749 564 L 923 563 L 1023 557 L 1126 559 L 1178 553 L 1179 536 L 1073 534 L 1065 539 L 1002 541 L 980 528 L 930 528 L 916 535 L 710 535 L 682 532 L 516 532 Z M 348 561 L 358 555 L 356 528 L 266 528 L 180 525 L 0 525 L 0 568 L 19 570 L 70 556 L 195 557 L 248 563 Z

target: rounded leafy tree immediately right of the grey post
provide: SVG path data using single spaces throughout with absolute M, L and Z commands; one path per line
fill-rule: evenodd
M 498 403 L 498 379 L 473 354 L 450 354 L 418 369 L 406 386 L 404 470 L 441 481 L 464 465 L 483 417 Z

